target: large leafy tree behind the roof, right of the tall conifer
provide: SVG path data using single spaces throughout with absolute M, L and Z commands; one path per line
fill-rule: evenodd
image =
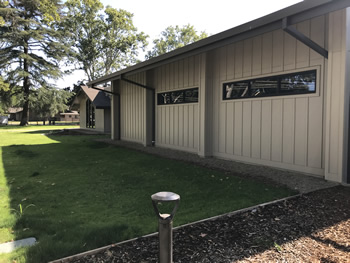
M 67 17 L 61 26 L 89 81 L 135 63 L 147 36 L 137 33 L 131 13 L 110 6 L 102 13 L 99 0 L 67 0 L 65 5 Z

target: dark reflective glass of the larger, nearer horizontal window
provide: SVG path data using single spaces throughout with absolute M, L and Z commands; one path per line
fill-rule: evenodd
M 223 84 L 224 100 L 315 92 L 316 70 Z

